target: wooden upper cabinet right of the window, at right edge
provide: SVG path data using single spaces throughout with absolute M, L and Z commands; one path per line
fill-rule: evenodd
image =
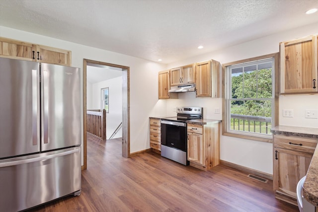
M 317 35 L 280 43 L 280 93 L 318 92 Z

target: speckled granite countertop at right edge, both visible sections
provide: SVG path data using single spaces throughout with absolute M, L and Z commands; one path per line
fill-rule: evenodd
M 305 128 L 293 126 L 277 126 L 271 129 L 275 135 L 297 136 L 303 138 L 318 139 L 318 128 Z M 304 198 L 312 205 L 318 207 L 318 145 L 314 152 L 312 161 L 307 171 L 305 183 L 303 185 Z

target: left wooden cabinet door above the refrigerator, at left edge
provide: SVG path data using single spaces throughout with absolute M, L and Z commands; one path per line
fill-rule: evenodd
M 33 59 L 33 51 L 35 57 L 36 45 L 34 44 L 0 38 L 0 57 L 36 61 L 35 58 Z

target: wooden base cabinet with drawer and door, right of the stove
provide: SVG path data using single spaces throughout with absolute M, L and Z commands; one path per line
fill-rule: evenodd
M 187 124 L 190 166 L 209 170 L 220 163 L 219 123 Z

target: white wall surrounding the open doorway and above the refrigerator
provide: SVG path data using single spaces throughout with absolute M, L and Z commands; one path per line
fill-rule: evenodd
M 0 36 L 71 50 L 72 66 L 81 70 L 83 59 L 130 67 L 130 152 L 150 148 L 149 116 L 166 113 L 164 101 L 158 100 L 158 71 L 165 65 L 3 26 Z

